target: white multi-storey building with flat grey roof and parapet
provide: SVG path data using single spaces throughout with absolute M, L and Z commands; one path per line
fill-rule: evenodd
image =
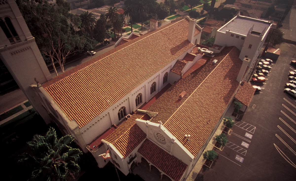
M 215 44 L 236 46 L 241 51 L 239 58 L 251 59 L 248 65 L 251 66 L 258 57 L 271 26 L 272 21 L 238 14 L 217 31 Z

